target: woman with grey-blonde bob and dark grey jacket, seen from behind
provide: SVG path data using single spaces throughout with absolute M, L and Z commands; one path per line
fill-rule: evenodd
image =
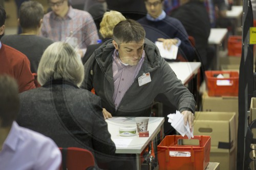
M 97 161 L 115 154 L 100 98 L 80 89 L 83 65 L 65 42 L 51 44 L 38 66 L 39 88 L 20 94 L 17 123 L 52 138 L 58 147 L 90 150 Z

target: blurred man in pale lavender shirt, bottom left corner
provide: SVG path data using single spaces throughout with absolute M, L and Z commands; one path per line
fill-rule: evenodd
M 0 76 L 0 169 L 59 169 L 61 153 L 52 139 L 18 126 L 18 85 Z

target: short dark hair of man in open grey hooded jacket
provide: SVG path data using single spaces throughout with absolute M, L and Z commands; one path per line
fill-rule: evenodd
M 117 44 L 139 42 L 145 38 L 145 30 L 139 22 L 133 19 L 126 19 L 114 27 L 113 38 Z

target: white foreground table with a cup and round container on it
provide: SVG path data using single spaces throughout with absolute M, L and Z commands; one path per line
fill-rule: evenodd
M 127 120 L 124 122 L 122 120 L 115 120 L 114 118 L 106 119 L 106 123 L 108 123 L 108 129 L 111 134 L 111 139 L 114 142 L 117 140 L 132 139 L 132 141 L 128 145 L 122 145 L 119 142 L 115 142 L 116 154 L 136 154 L 136 169 L 141 169 L 140 154 L 148 145 L 148 143 L 150 143 L 154 138 L 157 137 L 157 134 L 163 128 L 162 125 L 164 123 L 164 117 L 150 117 L 147 127 L 147 130 L 150 132 L 149 137 L 139 137 L 138 135 L 131 137 L 120 136 L 118 131 L 119 127 L 136 127 L 135 117 L 131 117 L 131 120 Z

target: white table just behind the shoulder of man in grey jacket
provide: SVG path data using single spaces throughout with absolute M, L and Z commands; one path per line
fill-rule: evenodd
M 197 75 L 201 67 L 200 62 L 168 62 L 168 64 L 183 84 L 186 84 L 194 75 Z

